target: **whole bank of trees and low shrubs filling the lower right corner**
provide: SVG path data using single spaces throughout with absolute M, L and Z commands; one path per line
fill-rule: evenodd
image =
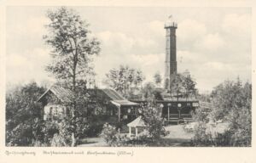
M 209 98 L 208 98 L 209 99 Z M 252 85 L 242 86 L 240 79 L 236 82 L 225 81 L 211 93 L 210 107 L 199 108 L 194 115 L 196 121 L 205 124 L 205 128 L 195 128 L 193 145 L 202 146 L 250 146 L 252 140 Z M 204 114 L 203 111 L 206 111 Z M 208 121 L 224 121 L 230 124 L 224 133 L 213 138 L 206 133 Z

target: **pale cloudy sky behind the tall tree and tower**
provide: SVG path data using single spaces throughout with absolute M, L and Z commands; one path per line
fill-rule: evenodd
M 143 70 L 146 82 L 164 76 L 165 22 L 177 22 L 177 72 L 189 70 L 200 92 L 224 80 L 251 82 L 250 8 L 72 7 L 86 20 L 102 51 L 94 59 L 96 83 L 119 65 Z M 8 84 L 54 82 L 45 66 L 45 16 L 53 7 L 8 7 L 6 22 L 6 80 Z

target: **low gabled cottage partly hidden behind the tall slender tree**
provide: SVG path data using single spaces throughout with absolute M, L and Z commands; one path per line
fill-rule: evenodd
M 44 120 L 57 120 L 70 114 L 69 106 L 72 104 L 72 92 L 53 85 L 38 98 L 42 104 Z M 115 116 L 118 121 L 134 119 L 139 104 L 123 98 L 112 89 L 87 89 L 84 97 L 88 103 L 84 104 L 86 115 Z

